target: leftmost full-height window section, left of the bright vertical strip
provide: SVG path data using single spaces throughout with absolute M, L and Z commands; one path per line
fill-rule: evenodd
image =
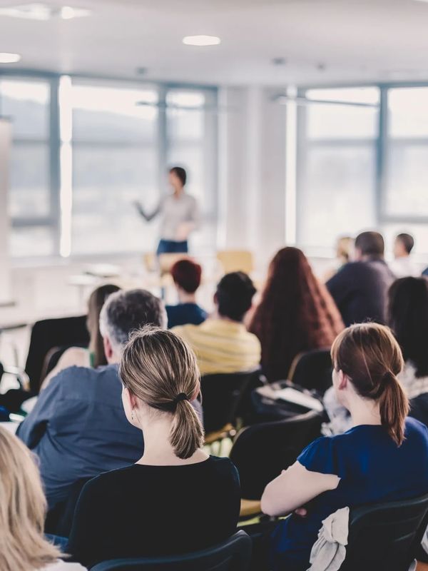
M 0 113 L 12 123 L 9 213 L 13 256 L 54 253 L 49 81 L 0 78 Z

